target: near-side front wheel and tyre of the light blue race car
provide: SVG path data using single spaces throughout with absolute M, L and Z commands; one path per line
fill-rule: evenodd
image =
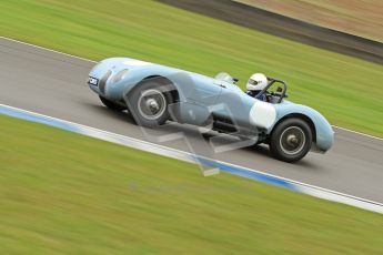
M 127 95 L 125 101 L 138 125 L 155 128 L 170 119 L 168 106 L 172 98 L 161 79 L 142 81 Z

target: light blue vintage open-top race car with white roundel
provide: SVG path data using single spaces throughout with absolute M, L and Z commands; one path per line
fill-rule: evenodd
M 285 82 L 268 78 L 261 94 L 244 93 L 226 73 L 209 78 L 161 64 L 128 58 L 99 62 L 88 84 L 101 102 L 115 111 L 128 110 L 142 126 L 167 121 L 211 130 L 269 144 L 272 154 L 294 162 L 310 150 L 325 152 L 334 141 L 329 122 L 315 110 L 292 103 Z

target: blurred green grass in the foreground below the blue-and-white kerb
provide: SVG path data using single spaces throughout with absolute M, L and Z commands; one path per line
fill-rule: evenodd
M 0 115 L 0 254 L 382 254 L 383 215 Z

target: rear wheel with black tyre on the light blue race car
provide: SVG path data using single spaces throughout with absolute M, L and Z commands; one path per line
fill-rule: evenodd
M 270 151 L 284 162 L 295 162 L 304 157 L 312 145 L 310 125 L 296 118 L 282 121 L 274 128 L 270 137 Z

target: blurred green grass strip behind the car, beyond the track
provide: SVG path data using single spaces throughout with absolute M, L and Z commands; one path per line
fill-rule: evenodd
M 1 2 L 2 35 L 100 60 L 124 55 L 243 85 L 253 72 L 290 83 L 291 99 L 333 124 L 383 136 L 383 67 L 148 0 Z

